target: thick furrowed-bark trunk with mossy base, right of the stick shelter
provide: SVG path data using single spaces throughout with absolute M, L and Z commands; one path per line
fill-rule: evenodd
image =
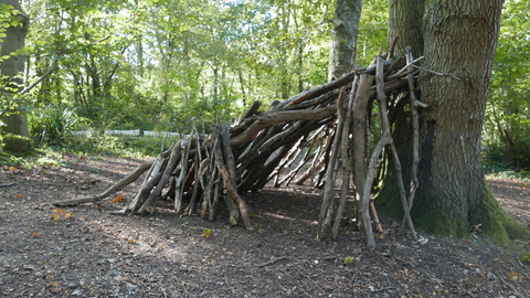
M 502 0 L 434 0 L 426 8 L 422 72 L 417 226 L 466 237 L 471 225 L 496 242 L 523 233 L 499 206 L 480 163 L 480 134 Z

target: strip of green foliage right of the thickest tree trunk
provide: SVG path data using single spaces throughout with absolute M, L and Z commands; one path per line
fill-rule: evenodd
M 506 1 L 484 140 L 495 151 L 486 164 L 502 161 L 517 171 L 530 169 L 529 35 L 528 1 Z

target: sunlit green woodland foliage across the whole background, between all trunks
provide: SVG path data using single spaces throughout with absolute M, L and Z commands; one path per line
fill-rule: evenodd
M 530 167 L 526 2 L 505 3 L 485 124 L 487 168 Z M 54 61 L 57 68 L 24 99 L 1 104 L 33 108 L 38 143 L 62 142 L 62 127 L 68 129 L 64 108 L 52 116 L 46 106 L 67 106 L 95 130 L 186 132 L 192 117 L 208 129 L 254 100 L 267 106 L 325 83 L 333 9 L 321 0 L 36 0 L 24 7 L 32 20 L 23 50 L 28 83 Z M 384 0 L 363 1 L 359 66 L 384 49 L 388 9 Z M 12 15 L 0 6 L 0 39 Z

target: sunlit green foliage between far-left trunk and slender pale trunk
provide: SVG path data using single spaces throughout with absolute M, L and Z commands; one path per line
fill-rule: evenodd
M 328 1 L 38 0 L 26 39 L 36 105 L 67 105 L 94 128 L 189 127 L 326 79 Z M 190 13 L 191 12 L 191 13 Z M 42 15 L 44 13 L 44 15 Z M 39 18 L 38 18 L 39 15 Z M 279 87 L 278 87 L 279 86 Z

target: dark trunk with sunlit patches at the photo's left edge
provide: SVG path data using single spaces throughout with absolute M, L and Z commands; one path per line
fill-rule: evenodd
M 13 55 L 11 53 L 24 47 L 25 34 L 28 33 L 29 18 L 23 12 L 18 0 L 0 0 L 1 4 L 12 6 L 20 11 L 17 14 L 19 25 L 11 25 L 6 31 L 6 38 L 0 44 L 0 56 L 9 58 L 0 62 L 0 75 L 7 77 L 10 83 L 4 86 L 9 88 L 0 89 L 2 102 L 19 100 L 13 98 L 18 89 L 22 87 L 22 73 L 24 72 L 25 55 Z M 6 81 L 2 83 L 4 84 Z M 2 128 L 6 134 L 3 149 L 10 152 L 26 152 L 30 150 L 30 131 L 28 129 L 28 119 L 21 103 L 17 103 L 15 108 L 8 108 L 0 114 L 1 120 L 6 124 Z

